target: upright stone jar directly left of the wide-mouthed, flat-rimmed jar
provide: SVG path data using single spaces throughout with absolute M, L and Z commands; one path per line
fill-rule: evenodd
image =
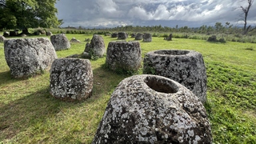
M 142 51 L 139 42 L 109 42 L 106 65 L 110 70 L 136 71 L 141 66 Z

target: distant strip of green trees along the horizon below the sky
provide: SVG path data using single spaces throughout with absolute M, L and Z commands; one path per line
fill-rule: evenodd
M 226 22 L 225 25 L 222 22 L 216 22 L 214 26 L 200 26 L 200 27 L 168 27 L 168 26 L 117 26 L 114 28 L 83 28 L 79 27 L 65 27 L 68 34 L 78 34 L 88 32 L 94 33 L 95 31 L 101 31 L 102 33 L 111 33 L 117 31 L 126 32 L 151 32 L 151 33 L 195 33 L 195 34 L 243 34 L 242 27 L 230 25 L 230 22 Z M 84 32 L 83 32 L 84 31 Z M 248 35 L 256 35 L 256 30 L 252 30 Z

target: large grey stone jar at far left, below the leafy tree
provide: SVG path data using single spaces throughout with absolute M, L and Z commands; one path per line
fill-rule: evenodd
M 57 55 L 48 38 L 10 39 L 4 42 L 5 57 L 14 78 L 28 77 L 50 68 Z

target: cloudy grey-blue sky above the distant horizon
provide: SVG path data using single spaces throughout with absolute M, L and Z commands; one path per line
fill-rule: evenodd
M 247 0 L 59 0 L 55 6 L 62 26 L 196 27 L 215 22 L 242 26 L 239 7 L 247 5 Z M 256 26 L 256 1 L 247 22 Z

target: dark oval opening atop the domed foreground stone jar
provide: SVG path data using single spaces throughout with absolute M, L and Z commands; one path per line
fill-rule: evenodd
M 146 85 L 149 86 L 151 89 L 161 93 L 174 94 L 178 92 L 178 86 L 174 82 L 169 81 L 166 78 L 148 76 L 146 77 L 144 82 L 146 82 Z

